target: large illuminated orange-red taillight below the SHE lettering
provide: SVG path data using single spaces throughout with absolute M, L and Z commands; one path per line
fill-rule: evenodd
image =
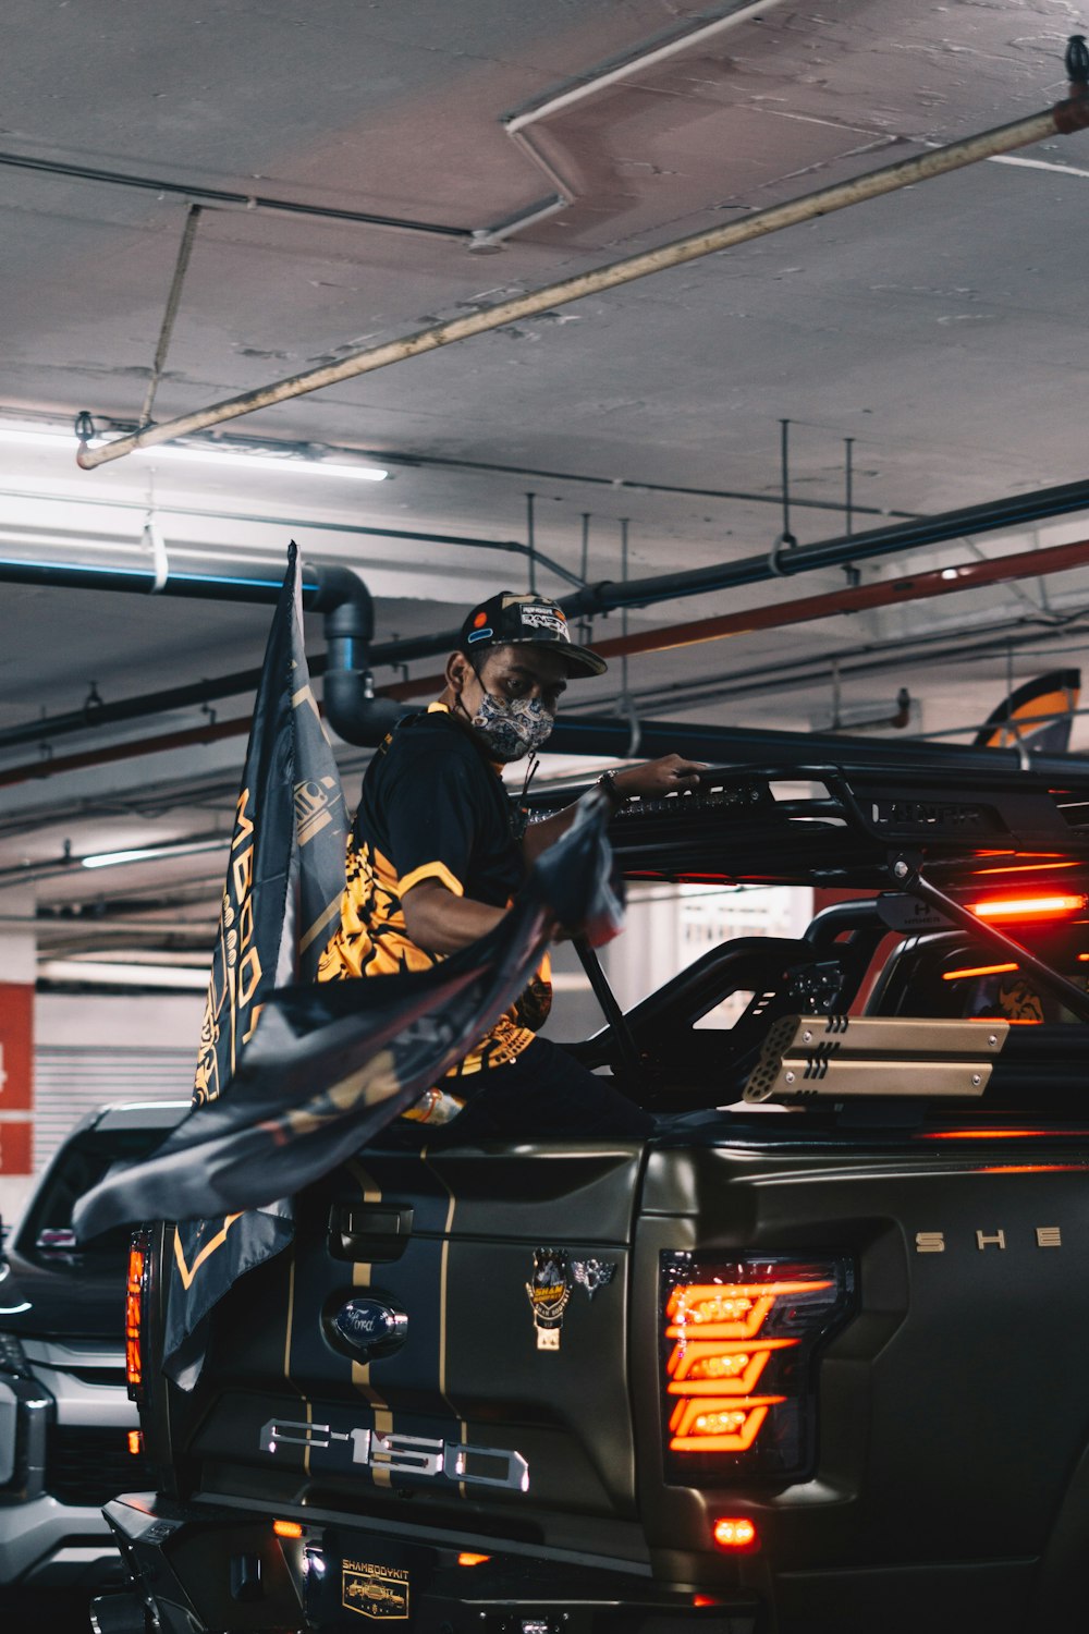
M 663 1253 L 666 1479 L 699 1487 L 808 1474 L 813 1363 L 852 1297 L 844 1258 Z

